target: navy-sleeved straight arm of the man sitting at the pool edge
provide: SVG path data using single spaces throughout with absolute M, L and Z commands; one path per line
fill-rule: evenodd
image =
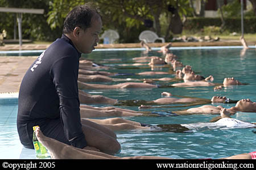
M 60 117 L 64 134 L 72 146 L 86 147 L 80 119 L 80 102 L 77 89 L 79 61 L 75 56 L 63 57 L 56 61 L 51 76 L 60 99 Z

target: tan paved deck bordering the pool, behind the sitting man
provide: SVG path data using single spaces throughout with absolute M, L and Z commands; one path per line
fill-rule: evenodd
M 247 42 L 249 45 L 255 45 L 255 42 Z M 166 43 L 150 43 L 151 47 L 160 47 Z M 0 46 L 0 51 L 9 50 L 44 50 L 50 44 L 6 44 Z M 215 42 L 172 42 L 172 46 L 241 46 L 239 40 L 215 41 Z M 104 48 L 141 48 L 139 43 L 129 44 L 98 44 L 98 49 Z M 35 57 L 1 57 L 0 56 L 0 99 L 5 96 L 15 96 L 19 91 L 20 83 L 28 67 L 38 56 Z

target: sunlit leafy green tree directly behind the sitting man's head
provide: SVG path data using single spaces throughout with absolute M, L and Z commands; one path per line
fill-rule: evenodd
M 192 11 L 188 0 L 90 0 L 100 7 L 104 20 L 104 28 L 122 27 L 125 24 L 127 31 L 133 27 L 144 25 L 146 29 L 152 29 L 159 36 L 163 34 L 160 24 L 160 16 L 165 14 L 168 20 L 168 30 L 172 32 L 182 32 L 183 24 L 181 16 L 185 16 Z M 87 1 L 87 2 L 90 2 Z M 82 5 L 82 0 L 53 0 L 50 3 L 47 22 L 51 28 L 61 27 L 67 12 L 77 5 Z M 176 11 L 173 13 L 168 7 L 173 6 Z M 148 26 L 152 26 L 148 28 Z M 170 31 L 164 33 L 166 38 L 170 36 Z

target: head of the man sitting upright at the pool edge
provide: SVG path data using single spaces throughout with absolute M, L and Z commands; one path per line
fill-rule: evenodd
M 63 34 L 68 36 L 80 53 L 90 53 L 100 41 L 102 28 L 100 11 L 92 5 L 77 6 L 71 10 L 63 25 Z

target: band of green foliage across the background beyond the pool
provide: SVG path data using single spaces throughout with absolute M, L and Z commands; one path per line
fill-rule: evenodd
M 171 12 L 168 5 L 178 7 L 181 18 L 192 16 L 190 0 L 1 0 L 0 6 L 43 8 L 44 15 L 23 14 L 22 31 L 24 39 L 54 41 L 61 36 L 63 22 L 68 12 L 77 5 L 93 2 L 102 13 L 103 30 L 115 29 L 120 35 L 119 42 L 138 42 L 139 33 L 145 29 L 158 32 L 159 36 L 171 36 L 170 21 Z M 241 21 L 240 3 L 232 1 L 222 6 L 225 19 L 225 30 L 229 32 L 240 32 Z M 245 14 L 245 32 L 254 33 L 256 28 L 255 18 L 247 18 L 253 12 Z M 238 16 L 238 18 L 234 18 Z M 146 28 L 144 20 L 150 19 L 154 22 L 154 28 Z M 0 32 L 7 30 L 7 39 L 13 38 L 15 15 L 0 12 Z M 159 24 L 159 25 L 157 25 Z M 216 34 L 221 25 L 220 18 L 188 18 L 184 29 L 191 32 L 209 32 Z M 160 30 L 159 30 L 160 29 Z M 223 31 L 223 30 L 222 30 Z M 18 35 L 18 33 L 17 33 Z M 168 35 L 168 36 L 167 36 Z M 168 39 L 167 39 L 168 41 Z

